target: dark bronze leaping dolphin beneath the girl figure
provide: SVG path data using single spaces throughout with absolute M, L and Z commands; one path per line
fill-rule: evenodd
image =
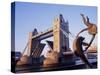
M 84 51 L 83 51 L 83 45 L 87 46 L 88 44 L 83 42 L 85 38 L 82 36 L 78 36 L 74 42 L 73 42 L 73 50 L 74 50 L 74 54 L 77 57 L 80 57 L 81 60 L 89 67 L 92 68 L 92 65 L 89 63 L 88 59 L 86 58 L 86 56 L 84 55 Z

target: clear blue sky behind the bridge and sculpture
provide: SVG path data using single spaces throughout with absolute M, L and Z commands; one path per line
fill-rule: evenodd
M 64 19 L 69 22 L 69 31 L 76 36 L 81 30 L 86 28 L 82 22 L 80 13 L 90 18 L 90 22 L 97 24 L 97 7 L 94 6 L 77 6 L 77 5 L 61 5 L 61 4 L 43 4 L 16 2 L 15 5 L 15 51 L 23 52 L 28 42 L 28 33 L 37 28 L 38 32 L 44 31 L 53 26 L 55 18 L 62 14 Z M 82 34 L 89 42 L 91 36 L 87 32 Z M 48 38 L 52 40 L 53 37 Z M 72 48 L 73 37 L 70 36 L 70 48 Z M 45 39 L 47 40 L 47 39 Z M 42 42 L 45 42 L 42 40 Z M 93 41 L 97 44 L 97 36 Z M 46 53 L 46 45 L 43 53 Z

